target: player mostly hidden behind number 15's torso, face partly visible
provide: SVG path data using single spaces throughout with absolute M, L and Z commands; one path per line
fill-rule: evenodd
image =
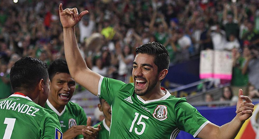
M 112 110 L 110 105 L 104 99 L 100 98 L 100 103 L 98 104 L 98 108 L 101 112 L 103 112 L 104 120 L 94 125 L 95 128 L 98 125 L 101 125 L 101 130 L 98 132 L 96 139 L 108 139 L 109 132 L 110 132 L 110 124 L 111 124 L 111 117 L 112 117 Z

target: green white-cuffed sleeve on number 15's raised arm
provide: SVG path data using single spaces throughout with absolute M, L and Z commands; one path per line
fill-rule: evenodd
M 109 105 L 112 104 L 114 96 L 120 88 L 125 85 L 124 82 L 112 78 L 101 77 L 98 85 L 98 97 L 105 99 Z

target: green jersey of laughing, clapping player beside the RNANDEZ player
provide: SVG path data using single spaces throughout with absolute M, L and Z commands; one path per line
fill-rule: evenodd
M 85 111 L 76 103 L 68 102 L 64 110 L 59 113 L 49 100 L 47 100 L 45 108 L 56 113 L 63 132 L 66 132 L 72 126 L 86 125 L 87 118 Z M 84 138 L 84 136 L 78 135 L 75 139 L 79 138 Z

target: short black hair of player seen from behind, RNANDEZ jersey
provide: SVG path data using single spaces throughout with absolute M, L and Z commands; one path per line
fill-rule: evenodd
M 10 71 L 10 82 L 14 92 L 33 91 L 39 81 L 48 80 L 47 64 L 38 58 L 23 57 L 15 62 Z

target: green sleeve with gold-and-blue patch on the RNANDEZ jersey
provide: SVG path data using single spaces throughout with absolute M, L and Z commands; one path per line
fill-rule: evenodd
M 40 122 L 40 139 L 62 139 L 63 133 L 56 115 L 46 113 Z

